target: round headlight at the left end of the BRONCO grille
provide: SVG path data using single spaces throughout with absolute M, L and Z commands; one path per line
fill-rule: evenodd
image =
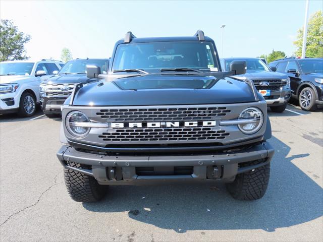
M 76 137 L 84 137 L 90 131 L 90 128 L 82 127 L 83 122 L 89 122 L 89 119 L 83 112 L 73 111 L 70 112 L 65 119 L 67 130 Z

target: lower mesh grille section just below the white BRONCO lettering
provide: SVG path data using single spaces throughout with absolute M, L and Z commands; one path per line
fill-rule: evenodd
M 129 141 L 214 141 L 223 140 L 230 134 L 224 130 L 213 130 L 209 127 L 192 128 L 148 128 L 148 129 L 117 129 L 114 133 L 102 133 L 98 137 L 109 142 Z

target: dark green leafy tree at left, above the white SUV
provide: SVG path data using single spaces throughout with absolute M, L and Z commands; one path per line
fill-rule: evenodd
M 19 32 L 18 27 L 7 19 L 0 24 L 0 61 L 28 59 L 25 55 L 25 43 L 30 40 L 28 34 Z

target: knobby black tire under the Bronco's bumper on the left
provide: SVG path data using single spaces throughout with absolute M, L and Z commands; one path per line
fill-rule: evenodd
M 80 168 L 77 163 L 70 166 Z M 101 186 L 94 177 L 64 168 L 65 184 L 71 198 L 76 202 L 96 202 L 106 194 L 107 186 Z

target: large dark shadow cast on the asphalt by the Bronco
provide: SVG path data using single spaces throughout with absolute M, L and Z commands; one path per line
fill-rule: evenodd
M 216 229 L 275 231 L 322 216 L 322 188 L 292 161 L 309 154 L 288 156 L 290 147 L 273 137 L 276 154 L 265 196 L 237 201 L 223 184 L 216 186 L 114 186 L 103 201 L 83 203 L 99 213 L 129 211 L 129 217 L 177 232 Z M 314 171 L 315 172 L 315 171 Z M 318 174 L 319 175 L 319 174 Z M 313 177 L 318 177 L 313 173 Z M 209 211 L 208 211 L 209 210 Z

